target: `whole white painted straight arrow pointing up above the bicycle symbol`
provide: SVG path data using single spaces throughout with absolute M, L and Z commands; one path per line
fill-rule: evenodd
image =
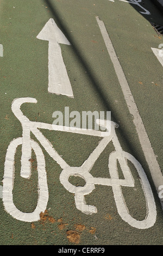
M 48 48 L 48 92 L 73 97 L 72 87 L 67 75 L 59 44 L 71 45 L 65 35 L 58 28 L 53 19 L 49 19 L 38 39 L 49 41 Z

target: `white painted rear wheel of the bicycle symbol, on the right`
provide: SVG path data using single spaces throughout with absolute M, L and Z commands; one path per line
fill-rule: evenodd
M 133 217 L 131 217 L 123 197 L 121 185 L 112 184 L 112 191 L 114 193 L 118 214 L 120 214 L 122 220 L 129 223 L 132 227 L 139 228 L 139 229 L 150 228 L 154 225 L 156 221 L 156 206 L 155 206 L 155 201 L 154 201 L 153 193 L 151 190 L 151 186 L 149 184 L 149 181 L 147 179 L 147 176 L 141 164 L 135 159 L 135 157 L 124 151 L 122 153 L 122 156 L 123 156 L 123 160 L 126 161 L 126 169 L 128 168 L 128 165 L 127 165 L 127 159 L 128 159 L 131 163 L 134 164 L 137 170 L 137 173 L 140 176 L 141 186 L 146 198 L 147 215 L 145 220 L 142 220 L 142 221 L 137 221 Z M 116 173 L 115 169 L 117 164 L 116 161 L 117 161 L 116 152 L 111 153 L 109 156 L 109 171 L 110 171 L 111 178 L 115 178 L 115 173 Z M 126 171 L 126 169 L 124 170 Z M 128 171 L 130 173 L 129 168 L 128 168 Z

